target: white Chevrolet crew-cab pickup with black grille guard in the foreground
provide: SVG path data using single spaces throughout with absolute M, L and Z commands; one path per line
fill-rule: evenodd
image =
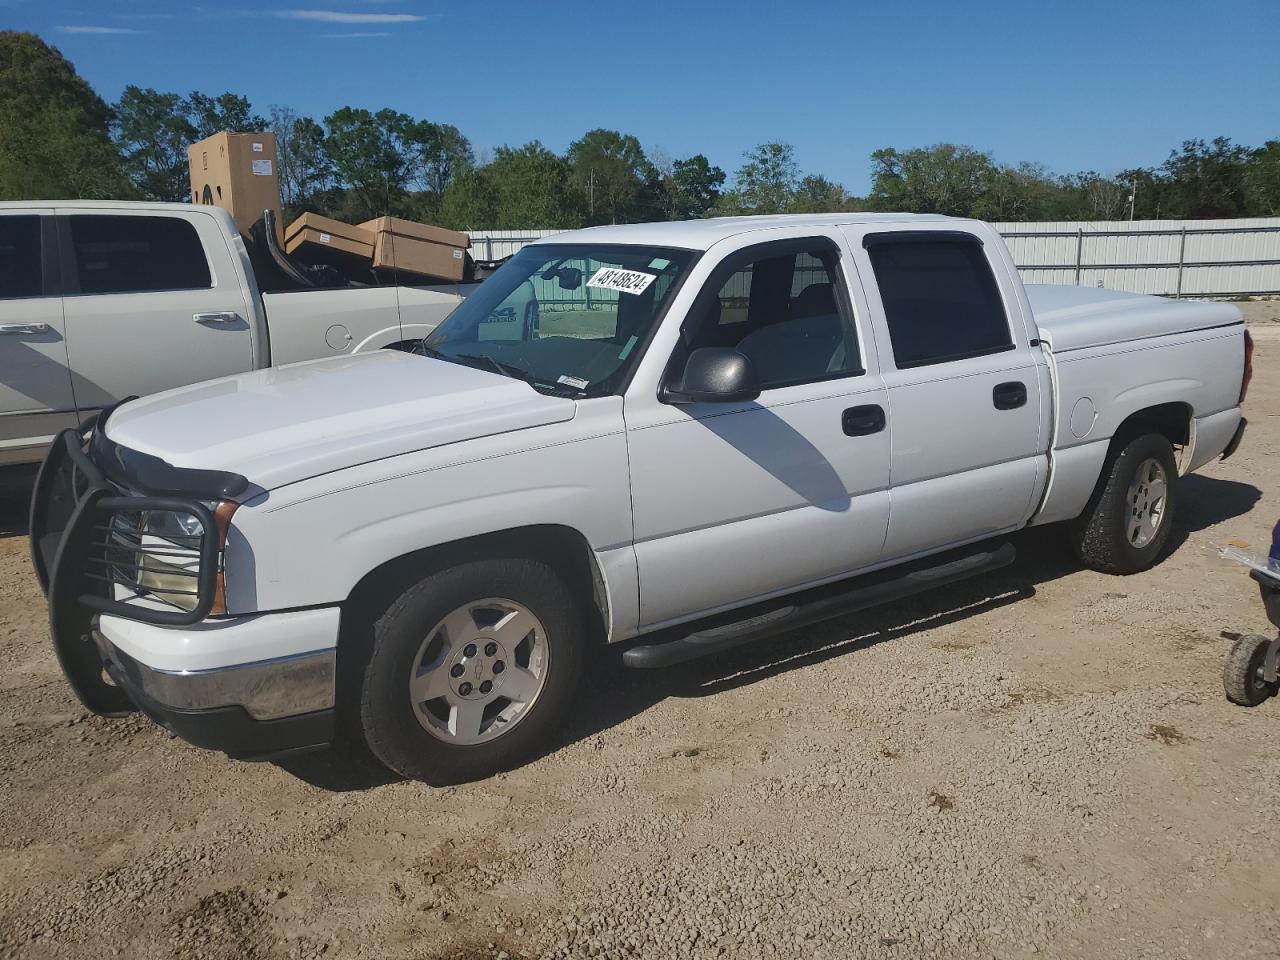
M 532 282 L 557 310 L 495 321 Z M 33 558 L 91 709 L 234 756 L 358 731 L 456 782 L 548 749 L 593 644 L 677 663 L 1007 564 L 1028 525 L 1151 566 L 1178 477 L 1240 440 L 1251 349 L 1229 305 L 1024 288 L 973 220 L 594 228 L 416 356 L 67 431 Z

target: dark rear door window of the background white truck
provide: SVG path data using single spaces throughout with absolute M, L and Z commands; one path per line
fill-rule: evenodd
M 196 228 L 175 216 L 72 216 L 82 293 L 210 285 Z

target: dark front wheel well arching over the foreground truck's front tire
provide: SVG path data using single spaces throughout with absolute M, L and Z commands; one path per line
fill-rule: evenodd
M 343 621 L 376 617 L 404 590 L 438 570 L 497 558 L 538 559 L 556 568 L 576 595 L 590 598 L 588 614 L 595 621 L 593 626 L 599 636 L 608 635 L 608 595 L 591 545 L 577 530 L 550 524 L 481 534 L 389 559 L 356 584 L 343 604 Z

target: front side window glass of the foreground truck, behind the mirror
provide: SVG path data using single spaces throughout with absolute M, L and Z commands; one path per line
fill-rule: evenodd
M 727 259 L 685 320 L 675 364 L 699 347 L 751 358 L 762 389 L 861 372 L 858 334 L 836 294 L 837 253 L 823 243 L 765 244 Z

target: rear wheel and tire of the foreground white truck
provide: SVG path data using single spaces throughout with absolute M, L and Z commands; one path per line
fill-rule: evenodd
M 1142 476 L 1139 476 L 1142 474 Z M 1160 434 L 1129 440 L 1071 529 L 1080 562 L 1102 573 L 1138 573 L 1160 559 L 1178 507 L 1174 448 Z

